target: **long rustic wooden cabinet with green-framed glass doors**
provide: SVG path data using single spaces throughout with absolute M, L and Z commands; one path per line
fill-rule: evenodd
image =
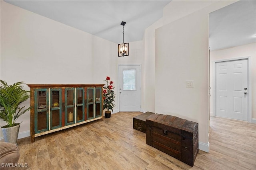
M 30 141 L 34 138 L 103 120 L 104 84 L 28 84 L 30 87 Z

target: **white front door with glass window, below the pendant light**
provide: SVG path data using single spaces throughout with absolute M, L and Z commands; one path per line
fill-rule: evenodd
M 140 111 L 140 65 L 119 65 L 119 111 Z

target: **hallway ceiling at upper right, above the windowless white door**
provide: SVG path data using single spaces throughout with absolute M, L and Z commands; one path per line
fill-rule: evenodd
M 241 0 L 209 14 L 210 50 L 256 42 L 256 1 Z

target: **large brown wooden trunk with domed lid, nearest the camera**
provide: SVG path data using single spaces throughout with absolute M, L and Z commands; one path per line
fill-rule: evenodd
M 194 166 L 198 153 L 198 123 L 171 115 L 152 114 L 146 118 L 146 143 Z

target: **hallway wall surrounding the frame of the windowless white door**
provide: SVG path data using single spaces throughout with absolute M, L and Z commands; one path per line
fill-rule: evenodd
M 252 75 L 252 118 L 253 122 L 256 123 L 256 43 L 251 43 L 247 45 L 241 45 L 229 49 L 210 51 L 210 86 L 212 87 L 212 62 L 220 61 L 224 59 L 237 59 L 241 57 L 250 57 L 251 63 L 249 63 Z M 210 90 L 210 94 L 213 94 L 212 89 Z M 210 98 L 210 115 L 214 115 L 213 113 L 213 101 Z

